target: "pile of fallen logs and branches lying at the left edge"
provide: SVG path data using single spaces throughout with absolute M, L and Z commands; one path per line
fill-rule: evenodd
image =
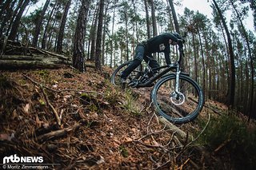
M 29 47 L 27 42 L 5 40 L 0 40 L 1 69 L 58 69 L 72 64 L 64 55 Z

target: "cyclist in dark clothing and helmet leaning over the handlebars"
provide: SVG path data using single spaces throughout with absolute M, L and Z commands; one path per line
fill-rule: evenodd
M 152 53 L 164 53 L 166 58 L 166 64 L 170 65 L 170 45 L 177 45 L 178 42 L 182 41 L 182 37 L 178 33 L 165 33 L 160 34 L 154 38 L 150 38 L 147 41 L 143 41 L 138 43 L 135 49 L 134 60 L 130 63 L 130 65 L 122 72 L 121 81 L 122 84 L 126 84 L 126 78 L 129 74 L 138 67 L 142 63 L 144 59 L 148 62 L 150 58 L 150 67 L 156 68 L 159 66 L 158 62 L 154 60 Z M 148 57 L 146 57 L 148 56 Z

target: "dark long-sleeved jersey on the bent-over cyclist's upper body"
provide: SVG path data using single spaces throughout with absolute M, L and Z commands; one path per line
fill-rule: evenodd
M 160 34 L 154 38 L 147 40 L 147 53 L 165 53 L 166 64 L 170 64 L 170 44 L 169 40 L 172 39 L 177 42 L 178 39 L 173 34 L 165 33 Z

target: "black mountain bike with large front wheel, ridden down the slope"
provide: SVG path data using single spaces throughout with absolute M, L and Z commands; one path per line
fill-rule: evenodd
M 150 68 L 150 60 L 143 70 L 142 65 L 134 69 L 127 77 L 127 86 L 142 88 L 154 86 L 151 91 L 151 101 L 157 112 L 174 124 L 185 124 L 194 121 L 204 105 L 204 95 L 201 87 L 181 69 L 184 57 L 183 44 L 178 43 L 179 57 L 171 65 Z M 131 61 L 118 66 L 111 75 L 111 83 L 121 86 L 121 74 Z M 155 85 L 154 85 L 155 82 Z

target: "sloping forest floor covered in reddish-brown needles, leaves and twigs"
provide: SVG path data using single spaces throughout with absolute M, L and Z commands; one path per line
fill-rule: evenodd
M 1 71 L 0 162 L 17 154 L 42 156 L 39 163 L 55 169 L 232 168 L 195 142 L 177 139 L 150 105 L 151 88 L 118 89 L 110 84 L 112 71 Z M 227 109 L 206 105 L 196 121 L 178 126 L 187 136 L 203 130 L 200 120 Z

